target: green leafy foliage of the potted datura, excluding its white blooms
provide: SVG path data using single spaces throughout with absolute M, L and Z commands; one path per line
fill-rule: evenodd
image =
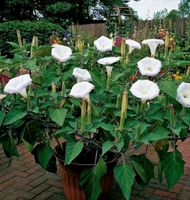
M 159 49 L 156 56 L 163 61 L 165 74 L 150 77 L 150 80 L 158 82 L 160 93 L 144 102 L 136 98 L 130 88 L 135 79 L 148 79 L 135 67 L 146 51 L 129 55 L 129 64 L 114 63 L 112 74 L 109 74 L 110 85 L 106 88 L 106 67 L 97 60 L 120 56 L 120 48 L 114 47 L 114 51 L 103 53 L 87 43 L 84 42 L 83 52 L 72 46 L 70 60 L 60 63 L 50 56 L 50 45 L 35 44 L 31 48 L 28 43 L 20 47 L 16 42 L 9 42 L 14 57 L 0 57 L 2 79 L 5 75 L 13 78 L 29 73 L 32 84 L 26 87 L 27 97 L 23 98 L 19 93 L 2 96 L 0 143 L 5 154 L 18 156 L 15 136 L 18 141 L 24 141 L 36 162 L 48 171 L 56 172 L 54 150 L 60 153 L 67 167 L 76 162 L 93 166 L 80 169 L 80 183 L 90 200 L 99 198 L 102 176 L 113 170 L 125 199 L 130 199 L 134 181 L 144 186 L 155 177 L 155 166 L 148 159 L 148 151 L 136 154 L 139 148 L 151 146 L 160 158 L 159 180 L 165 175 L 169 188 L 172 188 L 184 167 L 176 143 L 186 139 L 190 124 L 189 108 L 183 109 L 176 100 L 181 81 L 173 80 L 173 73 L 176 69 L 186 73 L 189 55 L 186 51 L 176 50 L 165 60 L 163 49 Z M 87 69 L 91 74 L 94 89 L 88 101 L 86 96 L 81 100 L 70 95 L 77 82 L 72 75 L 76 67 Z M 190 80 L 188 73 L 182 78 Z M 5 84 L 1 81 L 2 94 Z M 123 126 L 120 126 L 121 122 Z M 60 152 L 59 148 L 52 147 L 55 142 Z M 122 162 L 116 163 L 118 157 Z

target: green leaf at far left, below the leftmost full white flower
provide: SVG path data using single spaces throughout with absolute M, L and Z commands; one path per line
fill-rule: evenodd
M 16 109 L 14 110 L 13 109 L 5 117 L 3 125 L 13 124 L 17 120 L 22 119 L 23 117 L 25 117 L 26 115 L 27 115 L 27 112 L 25 112 L 25 111 L 16 110 Z

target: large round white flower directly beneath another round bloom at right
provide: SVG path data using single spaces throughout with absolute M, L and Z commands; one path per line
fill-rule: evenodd
M 130 88 L 131 93 L 146 102 L 147 100 L 154 99 L 159 95 L 160 89 L 158 85 L 149 80 L 138 80 Z

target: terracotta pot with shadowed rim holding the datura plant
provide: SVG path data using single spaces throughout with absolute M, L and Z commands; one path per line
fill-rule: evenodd
M 65 145 L 63 145 L 65 147 Z M 60 154 L 59 154 L 60 153 Z M 82 170 L 91 168 L 94 166 L 94 164 L 84 164 L 80 163 L 81 158 L 78 159 L 78 163 L 71 163 L 70 165 L 64 165 L 64 148 L 62 149 L 62 152 L 60 151 L 60 147 L 56 148 L 56 157 L 59 160 L 60 163 L 60 172 L 61 172 L 61 181 L 62 181 L 62 186 L 63 186 L 63 191 L 66 197 L 66 200 L 88 200 L 85 197 L 85 193 L 83 189 L 80 187 L 79 184 L 79 178 L 80 178 L 80 173 Z M 115 155 L 115 154 L 114 154 Z M 92 156 L 92 155 L 91 155 Z M 100 194 L 100 197 L 98 200 L 107 200 L 107 194 L 112 189 L 113 185 L 113 168 L 117 164 L 118 157 L 115 155 L 114 159 L 111 156 L 112 160 L 109 160 L 107 162 L 107 171 L 108 173 L 104 175 L 101 179 L 101 188 L 102 188 L 102 193 Z

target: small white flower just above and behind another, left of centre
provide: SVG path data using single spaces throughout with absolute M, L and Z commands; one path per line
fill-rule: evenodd
M 77 79 L 77 82 L 91 81 L 91 75 L 87 69 L 81 69 L 76 67 L 73 69 L 73 76 Z

